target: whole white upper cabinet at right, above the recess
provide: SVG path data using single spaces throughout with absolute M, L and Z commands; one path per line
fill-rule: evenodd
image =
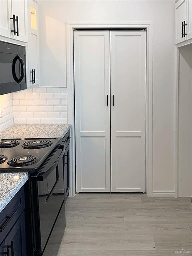
M 192 38 L 192 0 L 175 1 L 175 43 Z

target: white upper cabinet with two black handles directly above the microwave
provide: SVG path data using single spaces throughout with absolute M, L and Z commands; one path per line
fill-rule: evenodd
M 0 1 L 0 35 L 27 42 L 27 0 Z

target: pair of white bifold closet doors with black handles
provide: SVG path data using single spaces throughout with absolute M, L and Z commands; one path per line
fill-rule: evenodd
M 74 31 L 78 192 L 145 191 L 145 74 L 145 31 Z

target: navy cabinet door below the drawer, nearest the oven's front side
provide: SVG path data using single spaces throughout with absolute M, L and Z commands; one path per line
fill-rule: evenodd
M 10 256 L 26 256 L 25 213 L 23 212 L 5 239 Z

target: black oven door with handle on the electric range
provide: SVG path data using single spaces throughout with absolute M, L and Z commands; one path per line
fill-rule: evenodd
M 32 195 L 37 195 L 37 202 L 34 201 L 33 208 L 35 211 L 34 232 L 38 255 L 42 255 L 64 203 L 64 152 L 65 146 L 60 146 L 39 175 L 32 178 Z

